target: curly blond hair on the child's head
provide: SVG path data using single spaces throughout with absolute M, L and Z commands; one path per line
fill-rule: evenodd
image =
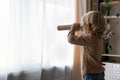
M 107 30 L 107 22 L 104 16 L 98 11 L 90 11 L 81 19 L 81 25 L 89 33 L 94 34 L 98 38 L 102 38 Z

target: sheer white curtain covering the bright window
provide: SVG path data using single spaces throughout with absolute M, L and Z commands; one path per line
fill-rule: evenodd
M 57 25 L 72 24 L 74 12 L 74 0 L 0 0 L 0 80 L 40 80 L 44 67 L 71 66 L 68 31 Z

